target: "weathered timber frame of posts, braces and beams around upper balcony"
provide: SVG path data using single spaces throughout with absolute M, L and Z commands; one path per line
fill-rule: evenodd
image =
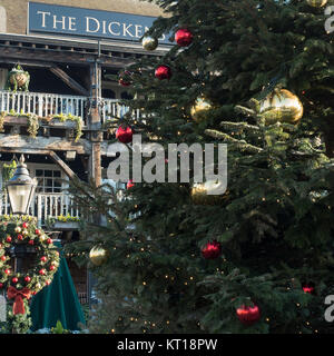
M 149 56 L 163 56 L 167 48 L 158 49 Z M 36 138 L 20 136 L 20 127 L 27 126 L 27 118 L 4 117 L 3 125 L 10 126 L 10 134 L 0 134 L 0 152 L 22 152 L 49 156 L 69 177 L 76 174 L 57 156 L 56 151 L 76 151 L 87 155 L 88 174 L 97 186 L 101 184 L 101 156 L 106 155 L 107 142 L 104 141 L 98 102 L 101 92 L 101 68 L 122 69 L 138 58 L 148 57 L 141 44 L 126 42 L 105 42 L 102 40 L 84 40 L 75 38 L 53 38 L 43 36 L 21 36 L 0 33 L 0 65 L 20 63 L 23 67 L 50 70 L 78 95 L 89 98 L 89 115 L 84 127 L 85 137 L 77 142 L 70 139 L 72 122 L 63 122 L 63 137 L 50 134 L 52 123 L 43 123 L 43 135 Z M 84 88 L 60 65 L 75 65 L 87 69 L 89 88 Z M 59 126 L 58 126 L 59 128 Z

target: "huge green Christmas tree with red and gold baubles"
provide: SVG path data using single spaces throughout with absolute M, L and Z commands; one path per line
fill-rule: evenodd
M 68 247 L 86 253 L 98 279 L 90 330 L 331 333 L 334 47 L 324 9 L 334 2 L 155 2 L 168 17 L 147 36 L 171 33 L 174 46 L 126 68 L 126 103 L 141 119 L 116 127 L 166 152 L 226 144 L 227 190 L 196 184 L 195 155 L 188 182 L 167 181 L 166 156 L 165 182 L 134 179 L 122 199 L 72 185 L 87 214 L 105 217 Z

